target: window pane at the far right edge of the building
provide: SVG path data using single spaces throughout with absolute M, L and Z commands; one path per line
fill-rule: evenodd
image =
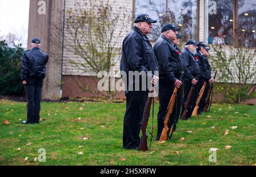
M 238 43 L 245 47 L 256 47 L 256 2 L 238 1 Z

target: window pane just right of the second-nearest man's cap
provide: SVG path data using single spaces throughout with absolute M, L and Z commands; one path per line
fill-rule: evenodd
M 169 0 L 168 12 L 171 14 L 171 22 L 179 26 L 183 34 L 183 41 L 196 39 L 197 22 L 197 1 L 196 0 Z

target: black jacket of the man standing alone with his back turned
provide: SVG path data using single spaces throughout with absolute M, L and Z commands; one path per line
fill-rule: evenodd
M 23 53 L 21 58 L 21 78 L 22 81 L 28 79 L 44 79 L 46 77 L 46 64 L 48 55 L 34 47 Z

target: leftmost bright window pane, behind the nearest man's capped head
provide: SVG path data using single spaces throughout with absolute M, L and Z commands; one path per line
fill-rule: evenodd
M 153 24 L 152 33 L 148 35 L 151 41 L 156 41 L 161 33 L 161 18 L 165 15 L 166 0 L 136 0 L 135 1 L 135 18 L 138 14 L 148 14 L 152 19 L 158 20 Z

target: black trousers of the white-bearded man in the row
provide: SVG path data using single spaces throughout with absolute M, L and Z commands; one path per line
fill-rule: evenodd
M 183 82 L 183 85 L 184 85 L 184 96 L 183 96 L 183 99 L 182 99 L 181 115 L 183 114 L 184 105 L 185 105 L 185 102 L 187 102 L 188 94 L 189 94 L 189 91 L 190 91 L 190 89 L 192 87 L 192 83 L 191 83 L 191 81 L 185 80 Z M 187 107 L 187 110 L 188 110 L 188 112 L 187 112 L 187 119 L 189 117 L 191 117 L 192 112 L 193 112 L 193 106 L 195 107 L 195 103 L 196 103 L 196 100 L 195 100 L 196 94 L 195 93 L 196 93 L 196 89 L 193 91 L 191 102 L 189 103 L 189 105 Z

